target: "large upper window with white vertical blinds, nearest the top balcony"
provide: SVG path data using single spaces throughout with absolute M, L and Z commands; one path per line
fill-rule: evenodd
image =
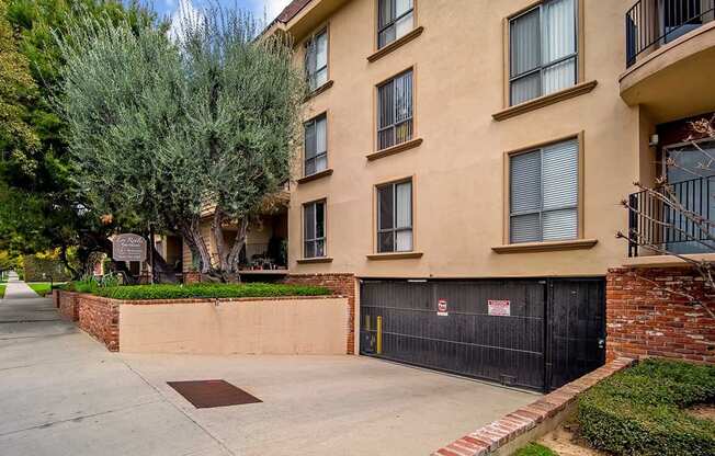
M 577 1 L 547 0 L 510 21 L 511 105 L 576 84 Z

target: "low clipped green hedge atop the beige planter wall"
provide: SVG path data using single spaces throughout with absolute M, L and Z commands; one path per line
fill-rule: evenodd
M 326 296 L 331 292 L 319 286 L 279 284 L 192 284 L 192 285 L 135 285 L 95 286 L 99 296 L 124 299 L 182 299 L 182 298 L 256 298 L 277 296 Z

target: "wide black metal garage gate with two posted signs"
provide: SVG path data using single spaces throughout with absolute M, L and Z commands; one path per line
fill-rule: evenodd
M 602 278 L 368 281 L 361 353 L 549 390 L 605 360 Z

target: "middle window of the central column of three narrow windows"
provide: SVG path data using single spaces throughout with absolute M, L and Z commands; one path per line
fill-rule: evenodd
M 377 88 L 377 148 L 412 139 L 412 70 Z

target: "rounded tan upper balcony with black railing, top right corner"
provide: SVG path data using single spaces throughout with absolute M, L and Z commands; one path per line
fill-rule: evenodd
M 715 0 L 640 0 L 625 15 L 621 96 L 665 123 L 713 111 Z

